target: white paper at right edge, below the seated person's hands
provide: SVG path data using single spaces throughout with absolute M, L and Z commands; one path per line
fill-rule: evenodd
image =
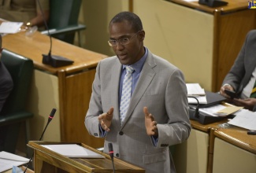
M 239 112 L 236 112 L 235 115 L 236 117 L 228 121 L 229 124 L 256 131 L 256 112 L 251 112 L 247 109 L 241 109 Z

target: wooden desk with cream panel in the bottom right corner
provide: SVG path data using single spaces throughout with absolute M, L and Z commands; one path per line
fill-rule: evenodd
M 214 131 L 213 173 L 256 172 L 256 136 L 240 127 Z

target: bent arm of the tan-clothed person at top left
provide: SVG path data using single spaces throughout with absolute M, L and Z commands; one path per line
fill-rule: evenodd
M 36 1 L 36 16 L 28 21 L 27 26 L 44 26 L 44 20 L 45 18 L 46 22 L 49 20 L 50 17 L 50 6 L 49 6 L 49 0 L 39 0 L 40 5 L 43 9 L 43 13 L 40 9 L 40 6 L 38 4 L 38 1 Z

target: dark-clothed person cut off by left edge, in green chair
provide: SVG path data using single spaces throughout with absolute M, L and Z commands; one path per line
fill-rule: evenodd
M 13 90 L 13 79 L 9 75 L 6 66 L 1 62 L 2 57 L 2 36 L 0 35 L 0 114 L 10 92 Z M 5 128 L 0 127 L 0 151 L 5 138 Z

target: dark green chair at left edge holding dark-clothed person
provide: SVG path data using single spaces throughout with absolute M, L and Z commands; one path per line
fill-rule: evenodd
M 28 119 L 32 118 L 33 114 L 25 110 L 25 105 L 28 101 L 34 64 L 32 60 L 8 50 L 2 51 L 1 61 L 13 78 L 13 90 L 0 113 L 0 127 L 6 132 L 3 150 L 15 153 L 21 123 L 25 124 L 25 142 L 28 143 Z

